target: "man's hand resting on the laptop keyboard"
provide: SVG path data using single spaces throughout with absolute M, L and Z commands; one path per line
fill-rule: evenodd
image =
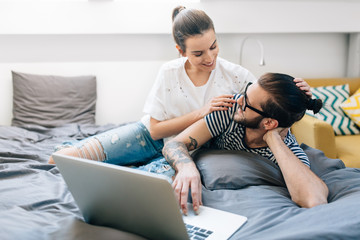
M 194 212 L 197 214 L 199 205 L 202 205 L 201 199 L 201 180 L 200 174 L 194 162 L 179 163 L 178 171 L 172 184 L 176 198 L 184 215 L 187 215 L 187 200 L 189 190 L 191 189 L 191 197 Z

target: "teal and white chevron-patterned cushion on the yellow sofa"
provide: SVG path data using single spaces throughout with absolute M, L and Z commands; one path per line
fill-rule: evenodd
M 329 123 L 335 135 L 359 134 L 355 123 L 343 112 L 340 105 L 349 98 L 349 84 L 311 88 L 314 97 L 323 100 L 323 107 L 316 115 L 312 111 L 306 114 Z

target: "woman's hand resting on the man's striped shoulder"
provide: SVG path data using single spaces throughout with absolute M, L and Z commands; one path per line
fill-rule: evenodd
M 232 105 L 236 102 L 233 97 L 234 95 L 232 94 L 225 94 L 212 98 L 207 104 L 205 104 L 204 107 L 199 110 L 201 118 L 214 111 L 228 110 L 228 108 L 232 107 Z

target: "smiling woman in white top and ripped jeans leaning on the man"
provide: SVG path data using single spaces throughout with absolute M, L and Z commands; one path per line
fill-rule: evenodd
M 224 111 L 256 78 L 240 65 L 218 57 L 209 16 L 196 9 L 173 10 L 173 37 L 181 58 L 165 63 L 144 106 L 141 121 L 65 146 L 59 153 L 173 176 L 161 150 L 169 138 L 213 111 Z M 298 86 L 309 92 L 301 79 Z M 49 163 L 53 163 L 50 158 Z

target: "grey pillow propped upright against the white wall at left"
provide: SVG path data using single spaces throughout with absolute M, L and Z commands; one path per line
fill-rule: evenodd
M 56 127 L 95 123 L 95 76 L 47 76 L 12 72 L 13 126 Z

